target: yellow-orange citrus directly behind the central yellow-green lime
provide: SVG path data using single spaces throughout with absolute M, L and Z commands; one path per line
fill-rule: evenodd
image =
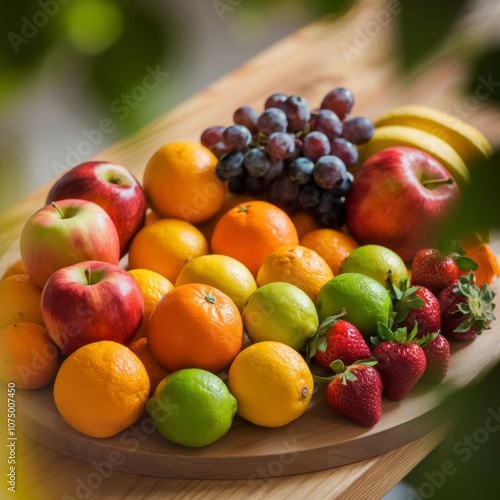
M 284 281 L 305 292 L 313 302 L 321 287 L 333 278 L 325 259 L 301 245 L 283 245 L 266 257 L 257 273 L 257 286 Z

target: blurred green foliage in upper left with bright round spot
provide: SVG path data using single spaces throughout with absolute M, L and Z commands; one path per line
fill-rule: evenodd
M 110 104 L 141 85 L 148 68 L 174 66 L 185 36 L 174 15 L 160 16 L 147 2 L 132 0 L 18 0 L 0 16 L 0 32 L 6 35 L 0 105 L 47 64 L 58 71 L 79 68 L 96 100 Z M 136 113 L 117 125 L 130 133 L 150 120 Z

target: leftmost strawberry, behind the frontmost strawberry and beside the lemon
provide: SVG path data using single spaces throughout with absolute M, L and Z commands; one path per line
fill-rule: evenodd
M 314 361 L 324 370 L 333 371 L 330 364 L 340 359 L 350 365 L 358 359 L 372 355 L 361 332 L 348 321 L 340 319 L 345 312 L 326 318 L 310 339 L 306 358 Z

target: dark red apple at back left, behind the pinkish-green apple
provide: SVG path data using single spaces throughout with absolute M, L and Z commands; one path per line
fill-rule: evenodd
M 144 225 L 146 197 L 129 170 L 115 163 L 89 161 L 68 170 L 52 186 L 46 204 L 65 198 L 79 198 L 104 208 L 120 238 L 120 257 Z

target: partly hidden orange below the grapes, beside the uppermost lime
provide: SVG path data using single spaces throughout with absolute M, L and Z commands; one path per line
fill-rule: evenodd
M 300 244 L 321 255 L 334 275 L 339 273 L 342 261 L 358 247 L 351 236 L 330 228 L 309 231 L 300 239 Z

